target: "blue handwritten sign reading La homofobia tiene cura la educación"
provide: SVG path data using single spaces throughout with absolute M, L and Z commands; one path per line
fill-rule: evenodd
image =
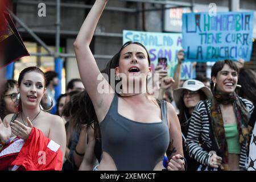
M 253 46 L 253 11 L 186 13 L 182 16 L 185 60 L 218 61 L 224 59 L 250 61 Z

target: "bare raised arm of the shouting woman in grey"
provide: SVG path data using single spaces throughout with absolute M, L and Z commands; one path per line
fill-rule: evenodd
M 108 0 L 96 0 L 89 14 L 86 16 L 74 43 L 80 77 L 96 111 L 102 110 L 102 105 L 110 105 L 113 99 L 113 94 L 99 93 L 97 90 L 100 82 L 102 83 L 102 81 L 104 81 L 104 85 L 106 86 L 109 86 L 109 84 L 101 75 L 92 51 L 89 48 L 98 20 L 107 2 Z M 98 80 L 98 76 L 102 76 L 102 79 Z M 104 102 L 104 104 L 102 102 Z M 103 113 L 104 112 L 105 109 L 103 109 Z M 98 113 L 97 116 L 99 116 Z M 101 117 L 98 118 L 98 120 L 100 121 Z

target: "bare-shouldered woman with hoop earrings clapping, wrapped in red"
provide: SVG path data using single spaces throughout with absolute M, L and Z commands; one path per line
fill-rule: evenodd
M 37 67 L 20 72 L 18 113 L 9 114 L 0 122 L 0 170 L 61 170 L 65 127 L 59 116 L 40 107 L 45 84 L 44 73 Z

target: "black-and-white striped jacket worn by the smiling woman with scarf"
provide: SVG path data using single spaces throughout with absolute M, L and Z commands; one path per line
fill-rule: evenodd
M 241 98 L 241 97 L 240 97 Z M 242 102 L 246 105 L 246 108 L 249 110 L 251 114 L 253 112 L 254 106 L 253 104 L 246 100 L 242 99 Z M 211 101 L 207 100 L 207 109 L 210 113 Z M 189 122 L 188 135 L 187 135 L 187 144 L 188 144 L 188 154 L 191 158 L 197 160 L 204 166 L 209 166 L 210 155 L 207 151 L 204 150 L 199 145 L 199 138 L 201 137 L 203 146 L 207 146 L 212 148 L 212 141 L 209 137 L 209 119 L 208 113 L 205 108 L 205 104 L 203 101 L 200 101 L 195 110 L 192 113 L 191 120 Z M 249 141 L 250 142 L 250 141 Z M 240 155 L 240 168 L 247 169 L 248 167 L 248 143 L 243 143 L 241 147 L 241 155 Z

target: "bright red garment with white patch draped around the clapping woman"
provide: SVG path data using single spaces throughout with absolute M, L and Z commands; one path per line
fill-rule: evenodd
M 16 138 L 3 148 L 0 152 L 0 170 L 59 171 L 63 164 L 62 158 L 60 145 L 33 127 L 26 142 Z

